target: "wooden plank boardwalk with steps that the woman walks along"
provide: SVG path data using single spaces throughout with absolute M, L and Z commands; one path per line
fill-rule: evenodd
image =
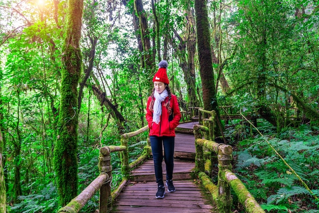
M 191 122 L 180 124 L 177 129 L 193 129 Z M 183 132 L 183 130 L 181 131 Z M 164 199 L 156 199 L 157 183 L 155 182 L 152 158 L 145 161 L 130 173 L 130 181 L 123 188 L 113 212 L 215 212 L 206 199 L 197 181 L 192 180 L 191 172 L 195 168 L 195 138 L 191 131 L 176 134 L 173 181 L 176 192 L 167 192 Z M 166 180 L 165 162 L 163 161 L 163 179 Z

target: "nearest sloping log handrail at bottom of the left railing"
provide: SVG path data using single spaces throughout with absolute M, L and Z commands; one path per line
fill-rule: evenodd
M 76 213 L 93 197 L 103 183 L 109 178 L 107 174 L 101 174 L 91 182 L 85 190 L 72 199 L 66 206 L 60 208 L 57 213 Z

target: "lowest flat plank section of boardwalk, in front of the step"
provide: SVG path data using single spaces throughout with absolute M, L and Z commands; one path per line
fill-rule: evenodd
M 132 183 L 121 192 L 113 212 L 213 212 L 200 187 L 193 181 L 174 181 L 176 192 L 156 199 L 157 184 Z

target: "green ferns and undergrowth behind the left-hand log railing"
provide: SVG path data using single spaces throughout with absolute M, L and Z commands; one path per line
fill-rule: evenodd
M 130 141 L 128 145 L 129 162 L 138 158 L 143 152 L 143 148 L 146 145 L 145 137 L 147 137 L 147 135 L 141 135 Z M 143 138 L 144 140 L 139 141 Z M 113 137 L 110 137 L 109 139 L 110 141 L 107 141 L 107 144 L 120 145 L 119 140 L 116 140 Z M 97 147 L 78 146 L 78 193 L 81 193 L 99 175 L 98 158 L 99 149 Z M 111 153 L 111 163 L 113 176 L 111 186 L 112 190 L 114 190 L 123 177 L 121 173 L 121 160 L 118 152 Z M 35 188 L 34 193 L 20 196 L 20 203 L 8 206 L 8 212 L 51 213 L 57 212 L 57 210 L 61 208 L 58 202 L 59 199 L 55 186 L 54 174 L 47 174 L 44 178 L 39 178 L 38 181 L 33 182 L 30 187 Z M 80 212 L 95 212 L 95 210 L 98 209 L 98 201 L 99 193 L 97 192 Z

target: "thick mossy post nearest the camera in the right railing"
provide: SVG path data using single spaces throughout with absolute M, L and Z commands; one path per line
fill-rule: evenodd
M 217 207 L 220 213 L 230 213 L 232 198 L 230 194 L 231 187 L 224 178 L 225 170 L 231 171 L 232 165 L 232 147 L 219 144 L 218 146 L 218 201 Z

